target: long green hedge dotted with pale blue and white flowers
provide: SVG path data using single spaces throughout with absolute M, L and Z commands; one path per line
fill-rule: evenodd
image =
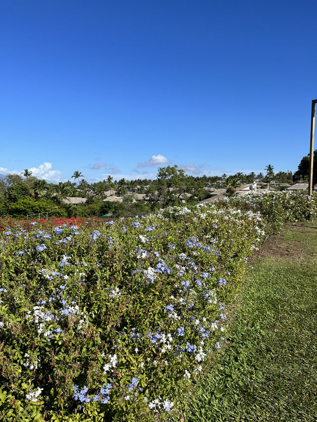
M 166 419 L 225 343 L 248 256 L 270 227 L 316 216 L 315 199 L 269 194 L 95 226 L 12 222 L 0 232 L 3 420 Z

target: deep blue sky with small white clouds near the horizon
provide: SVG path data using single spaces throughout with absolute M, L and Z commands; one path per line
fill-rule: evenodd
M 0 5 L 0 173 L 92 182 L 297 170 L 316 0 Z

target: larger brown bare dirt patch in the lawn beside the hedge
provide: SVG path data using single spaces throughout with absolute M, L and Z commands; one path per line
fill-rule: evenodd
M 293 243 L 283 242 L 281 236 L 271 236 L 254 254 L 255 258 L 294 258 L 303 255 L 304 249 Z

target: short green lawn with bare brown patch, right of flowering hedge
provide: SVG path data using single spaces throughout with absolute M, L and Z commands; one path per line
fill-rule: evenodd
M 286 226 L 259 255 L 185 421 L 317 421 L 317 223 Z

